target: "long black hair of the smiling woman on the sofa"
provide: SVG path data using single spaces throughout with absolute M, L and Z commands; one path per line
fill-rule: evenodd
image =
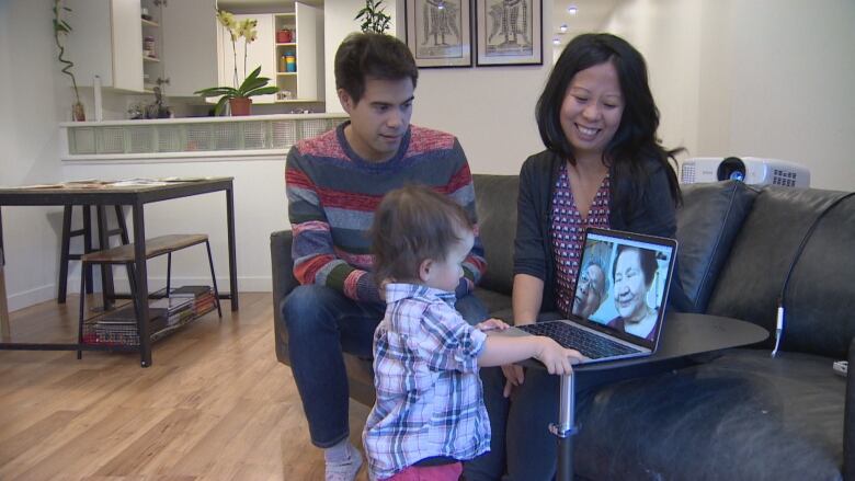
M 684 149 L 666 150 L 659 142 L 659 110 L 650 92 L 647 64 L 635 47 L 618 36 L 583 34 L 565 47 L 537 101 L 535 115 L 544 145 L 575 165 L 573 147 L 561 129 L 561 104 L 578 72 L 605 62 L 615 66 L 624 98 L 620 125 L 603 152 L 603 161 L 612 173 L 613 205 L 627 213 L 632 203 L 641 201 L 649 175 L 645 169 L 648 159 L 665 170 L 671 197 L 679 205 L 680 184 L 669 159 Z

